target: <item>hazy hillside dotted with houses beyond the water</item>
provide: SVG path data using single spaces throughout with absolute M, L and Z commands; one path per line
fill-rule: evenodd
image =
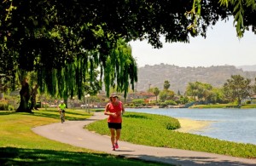
M 231 75 L 241 75 L 254 81 L 256 72 L 245 72 L 236 66 L 210 66 L 210 67 L 179 67 L 174 65 L 154 65 L 138 68 L 138 91 L 147 91 L 152 87 L 163 89 L 165 80 L 171 83 L 170 89 L 181 94 L 189 82 L 199 81 L 210 83 L 213 87 L 222 87 Z

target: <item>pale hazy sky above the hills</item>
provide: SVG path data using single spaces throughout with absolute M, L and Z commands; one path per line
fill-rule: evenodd
M 130 44 L 138 67 L 160 63 L 195 67 L 256 65 L 256 35 L 246 31 L 239 40 L 233 21 L 218 22 L 208 28 L 206 39 L 190 37 L 189 43 L 164 43 L 161 49 L 152 49 L 147 41 Z

